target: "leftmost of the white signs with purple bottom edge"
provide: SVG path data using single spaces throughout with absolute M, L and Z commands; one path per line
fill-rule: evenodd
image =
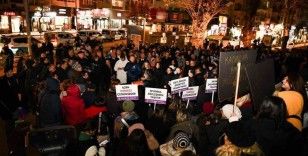
M 116 95 L 118 101 L 138 100 L 137 85 L 116 85 Z

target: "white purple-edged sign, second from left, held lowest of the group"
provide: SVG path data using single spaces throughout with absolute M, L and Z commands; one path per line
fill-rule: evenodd
M 145 88 L 144 102 L 155 103 L 155 104 L 166 104 L 167 94 L 168 94 L 167 89 Z

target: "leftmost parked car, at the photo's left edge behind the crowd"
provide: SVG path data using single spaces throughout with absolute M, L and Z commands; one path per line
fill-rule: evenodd
M 42 46 L 42 42 L 31 37 L 31 42 Z M 9 48 L 13 51 L 14 54 L 21 55 L 28 52 L 28 36 L 26 35 L 10 35 L 10 36 L 1 36 L 0 39 L 0 51 L 5 44 L 8 44 Z

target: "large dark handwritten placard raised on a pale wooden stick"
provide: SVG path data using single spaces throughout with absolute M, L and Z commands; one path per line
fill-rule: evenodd
M 241 62 L 241 73 L 249 64 L 255 64 L 257 58 L 256 50 L 221 52 L 219 58 L 218 76 L 218 98 L 219 101 L 228 100 L 234 97 L 236 87 L 237 63 Z M 240 75 L 238 95 L 242 96 L 249 90 L 249 83 L 246 74 Z

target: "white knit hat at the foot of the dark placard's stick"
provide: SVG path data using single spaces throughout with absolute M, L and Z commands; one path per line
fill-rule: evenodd
M 233 112 L 234 109 L 234 112 Z M 229 120 L 229 122 L 239 121 L 242 118 L 241 110 L 232 104 L 226 104 L 221 108 L 222 114 Z

